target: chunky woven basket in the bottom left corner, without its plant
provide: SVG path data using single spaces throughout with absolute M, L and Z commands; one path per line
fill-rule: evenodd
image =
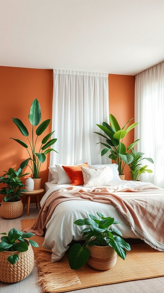
M 11 251 L 3 251 L 0 253 L 0 281 L 5 283 L 16 283 L 25 279 L 34 266 L 34 252 L 31 244 L 25 252 L 14 251 L 19 255 L 18 261 L 12 265 L 7 258 L 12 254 Z

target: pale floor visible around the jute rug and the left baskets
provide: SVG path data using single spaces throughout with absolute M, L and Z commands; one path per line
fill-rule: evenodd
M 36 207 L 30 207 L 29 216 L 26 215 L 25 208 L 21 217 L 17 219 L 3 219 L 0 216 L 0 231 L 6 232 L 12 228 L 21 230 L 21 219 L 36 218 L 39 210 Z M 1 273 L 1 272 L 0 272 Z M 34 265 L 32 273 L 21 282 L 9 284 L 0 282 L 0 293 L 41 293 L 42 288 L 36 284 L 38 280 L 37 268 Z M 164 277 L 151 278 L 146 280 L 137 280 L 123 282 L 118 284 L 104 285 L 79 289 L 69 293 L 164 293 Z

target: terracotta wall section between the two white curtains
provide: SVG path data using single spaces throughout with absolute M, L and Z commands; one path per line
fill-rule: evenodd
M 109 113 L 114 115 L 123 127 L 128 120 L 134 118 L 135 76 L 109 74 Z M 129 122 L 134 123 L 134 119 Z M 134 129 L 123 139 L 126 147 L 134 142 Z M 125 165 L 125 179 L 132 180 L 130 169 Z

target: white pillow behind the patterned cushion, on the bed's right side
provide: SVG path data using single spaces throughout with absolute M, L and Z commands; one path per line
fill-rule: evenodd
M 108 167 L 109 168 L 109 181 L 108 182 L 112 182 L 112 181 L 121 181 L 119 175 L 118 175 L 118 165 L 117 164 L 104 164 L 104 165 L 88 165 L 89 168 L 91 169 L 100 169 L 100 168 L 104 168 L 104 167 Z

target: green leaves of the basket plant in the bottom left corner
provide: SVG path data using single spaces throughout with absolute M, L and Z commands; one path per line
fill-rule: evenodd
M 7 235 L 5 232 L 0 234 Z M 34 233 L 23 233 L 22 231 L 18 231 L 17 229 L 13 228 L 8 232 L 8 236 L 1 237 L 0 252 L 11 251 L 11 255 L 8 256 L 7 260 L 9 263 L 14 265 L 19 259 L 19 255 L 13 253 L 14 251 L 27 251 L 29 243 L 34 247 L 39 247 L 38 243 L 35 241 L 26 239 L 31 238 L 34 235 Z

